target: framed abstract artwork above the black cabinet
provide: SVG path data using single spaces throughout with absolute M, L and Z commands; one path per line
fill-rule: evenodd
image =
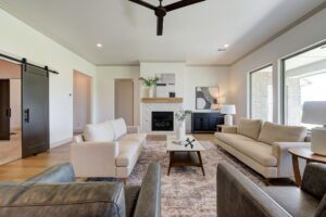
M 216 110 L 218 107 L 218 87 L 197 87 L 196 88 L 196 110 Z

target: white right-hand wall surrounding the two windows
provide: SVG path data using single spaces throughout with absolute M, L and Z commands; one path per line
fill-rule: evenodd
M 230 67 L 231 101 L 237 105 L 237 120 L 247 116 L 248 73 L 266 64 L 274 66 L 274 122 L 280 122 L 279 59 L 326 39 L 326 9 L 288 30 Z

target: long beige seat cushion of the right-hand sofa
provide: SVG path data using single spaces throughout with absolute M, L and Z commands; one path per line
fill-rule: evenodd
M 277 158 L 272 155 L 272 146 L 268 144 L 235 133 L 216 132 L 215 136 L 218 140 L 233 146 L 263 166 L 277 166 Z

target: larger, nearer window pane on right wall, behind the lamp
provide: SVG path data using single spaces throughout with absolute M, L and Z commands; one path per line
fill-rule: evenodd
M 284 124 L 303 125 L 303 103 L 326 101 L 326 44 L 283 60 L 283 74 Z

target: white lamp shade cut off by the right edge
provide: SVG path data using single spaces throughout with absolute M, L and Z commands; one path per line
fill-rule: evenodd
M 326 125 L 326 101 L 309 101 L 303 104 L 302 123 Z

